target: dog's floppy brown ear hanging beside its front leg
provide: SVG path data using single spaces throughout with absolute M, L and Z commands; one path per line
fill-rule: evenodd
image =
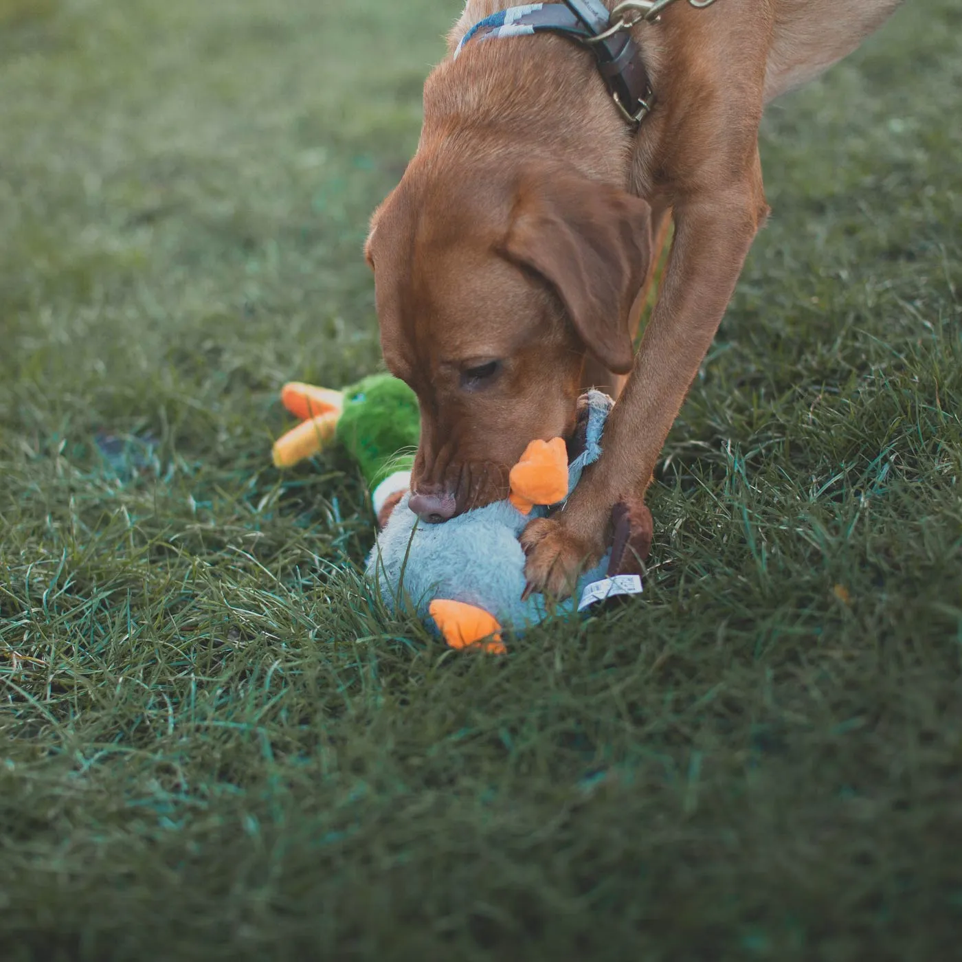
M 544 278 L 601 364 L 627 374 L 634 361 L 629 314 L 651 245 L 644 200 L 549 167 L 520 182 L 503 253 Z

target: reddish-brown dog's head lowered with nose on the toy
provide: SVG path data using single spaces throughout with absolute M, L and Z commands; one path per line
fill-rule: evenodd
M 564 165 L 412 162 L 366 254 L 385 362 L 418 394 L 423 519 L 506 496 L 526 445 L 568 434 L 587 354 L 628 372 L 650 235 L 643 200 Z

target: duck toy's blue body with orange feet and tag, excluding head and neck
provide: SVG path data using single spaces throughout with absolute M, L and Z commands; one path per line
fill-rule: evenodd
M 601 453 L 612 400 L 588 392 L 579 404 L 578 429 L 566 448 L 561 439 L 529 445 L 511 472 L 511 495 L 445 521 L 423 524 L 403 494 L 367 560 L 367 577 L 389 608 L 408 605 L 452 647 L 478 645 L 503 651 L 501 633 L 516 635 L 548 614 L 542 595 L 522 600 L 524 552 L 519 535 L 573 491 Z M 571 461 L 568 463 L 568 457 Z M 642 590 L 642 562 L 651 543 L 644 505 L 619 506 L 613 550 L 585 571 L 572 597 L 555 606 L 565 615 L 615 595 Z

